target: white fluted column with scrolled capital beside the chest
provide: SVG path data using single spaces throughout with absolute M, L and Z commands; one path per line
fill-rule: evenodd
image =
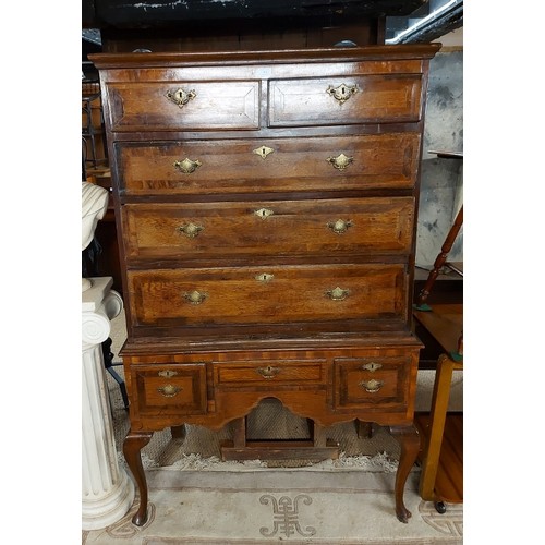
M 82 293 L 83 530 L 117 522 L 134 500 L 133 481 L 118 462 L 101 349 L 123 302 L 110 277 L 90 280 Z

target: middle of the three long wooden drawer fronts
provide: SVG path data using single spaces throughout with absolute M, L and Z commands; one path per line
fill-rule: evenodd
M 131 204 L 122 207 L 126 256 L 408 254 L 413 197 Z

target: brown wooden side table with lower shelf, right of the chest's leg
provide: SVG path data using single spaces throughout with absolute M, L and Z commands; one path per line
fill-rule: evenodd
M 420 496 L 434 501 L 438 512 L 445 512 L 445 502 L 463 501 L 463 414 L 448 413 L 452 372 L 463 368 L 459 344 L 463 305 L 434 304 L 432 311 L 413 311 L 413 315 L 443 350 L 429 415 L 417 414 L 415 424 L 423 437 Z

